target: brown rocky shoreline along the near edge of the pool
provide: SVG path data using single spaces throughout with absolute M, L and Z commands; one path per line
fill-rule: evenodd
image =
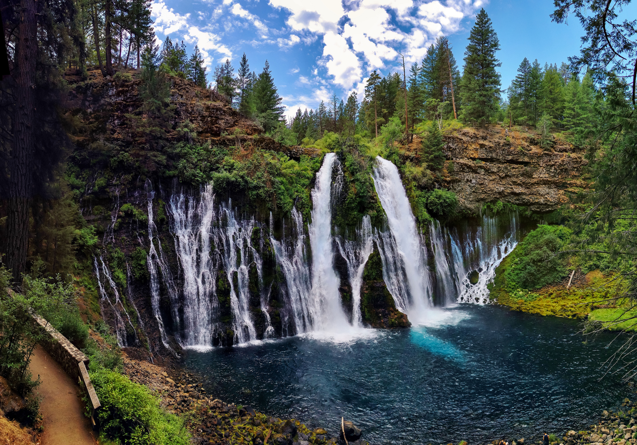
M 324 428 L 308 428 L 296 419 L 279 419 L 245 405 L 228 404 L 208 395 L 196 375 L 185 372 L 178 365 L 155 365 L 124 354 L 124 371 L 132 381 L 144 384 L 161 398 L 161 405 L 187 421 L 197 444 L 254 444 L 254 445 L 335 445 L 345 444 L 343 434 L 328 437 Z M 636 397 L 637 400 L 637 397 Z M 345 421 L 348 444 L 369 445 L 360 439 L 362 433 Z M 628 398 L 617 412 L 603 411 L 598 425 L 589 430 L 569 430 L 563 435 L 552 434 L 550 445 L 633 445 L 637 444 L 637 402 Z M 484 445 L 497 445 L 500 438 Z M 510 445 L 543 444 L 524 438 L 506 439 Z M 462 445 L 474 445 L 466 438 Z M 430 444 L 431 445 L 431 444 Z M 453 445 L 453 444 L 448 444 Z M 482 445 L 482 444 L 480 444 Z

